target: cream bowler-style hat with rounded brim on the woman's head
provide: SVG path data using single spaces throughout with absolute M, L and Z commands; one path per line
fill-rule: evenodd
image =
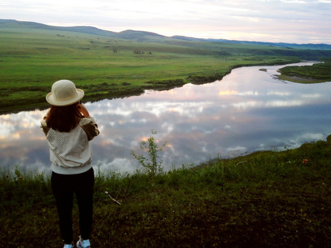
M 79 102 L 84 96 L 81 89 L 76 89 L 72 81 L 63 79 L 53 83 L 52 92 L 46 96 L 46 101 L 54 106 L 68 106 Z

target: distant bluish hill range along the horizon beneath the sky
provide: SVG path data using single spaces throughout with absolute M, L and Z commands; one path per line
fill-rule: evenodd
M 166 41 L 177 40 L 177 41 L 236 43 L 236 44 L 245 44 L 245 45 L 270 45 L 280 48 L 303 49 L 303 50 L 331 50 L 331 45 L 324 43 L 297 44 L 297 43 L 272 43 L 272 42 L 261 42 L 261 41 L 234 41 L 227 39 L 201 39 L 201 38 L 184 37 L 178 35 L 172 37 L 165 37 L 161 34 L 156 34 L 154 32 L 146 32 L 146 31 L 125 30 L 122 32 L 112 32 L 90 26 L 58 27 L 58 26 L 46 25 L 42 23 L 35 23 L 31 21 L 16 21 L 11 19 L 0 19 L 0 28 L 40 28 L 45 30 L 61 30 L 68 32 L 81 32 L 85 34 L 96 34 L 106 37 L 128 39 L 132 41 L 155 42 L 155 43 L 160 43 L 160 42 L 164 43 Z

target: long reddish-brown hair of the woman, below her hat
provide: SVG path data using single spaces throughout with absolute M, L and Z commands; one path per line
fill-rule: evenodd
M 70 132 L 77 127 L 82 115 L 78 110 L 77 103 L 68 106 L 50 106 L 50 111 L 46 117 L 48 127 L 59 132 Z

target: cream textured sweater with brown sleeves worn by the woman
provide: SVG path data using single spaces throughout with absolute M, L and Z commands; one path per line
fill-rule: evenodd
M 41 121 L 41 128 L 46 134 L 50 147 L 52 171 L 58 174 L 80 174 L 92 167 L 93 157 L 90 140 L 99 134 L 92 116 L 82 118 L 79 125 L 70 132 L 59 132 L 47 127 Z

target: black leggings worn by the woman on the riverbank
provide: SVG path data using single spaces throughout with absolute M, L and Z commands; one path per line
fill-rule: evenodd
M 81 238 L 90 238 L 92 231 L 94 171 L 73 175 L 52 172 L 52 192 L 57 201 L 61 236 L 66 244 L 72 242 L 72 205 L 76 194 L 79 207 Z

